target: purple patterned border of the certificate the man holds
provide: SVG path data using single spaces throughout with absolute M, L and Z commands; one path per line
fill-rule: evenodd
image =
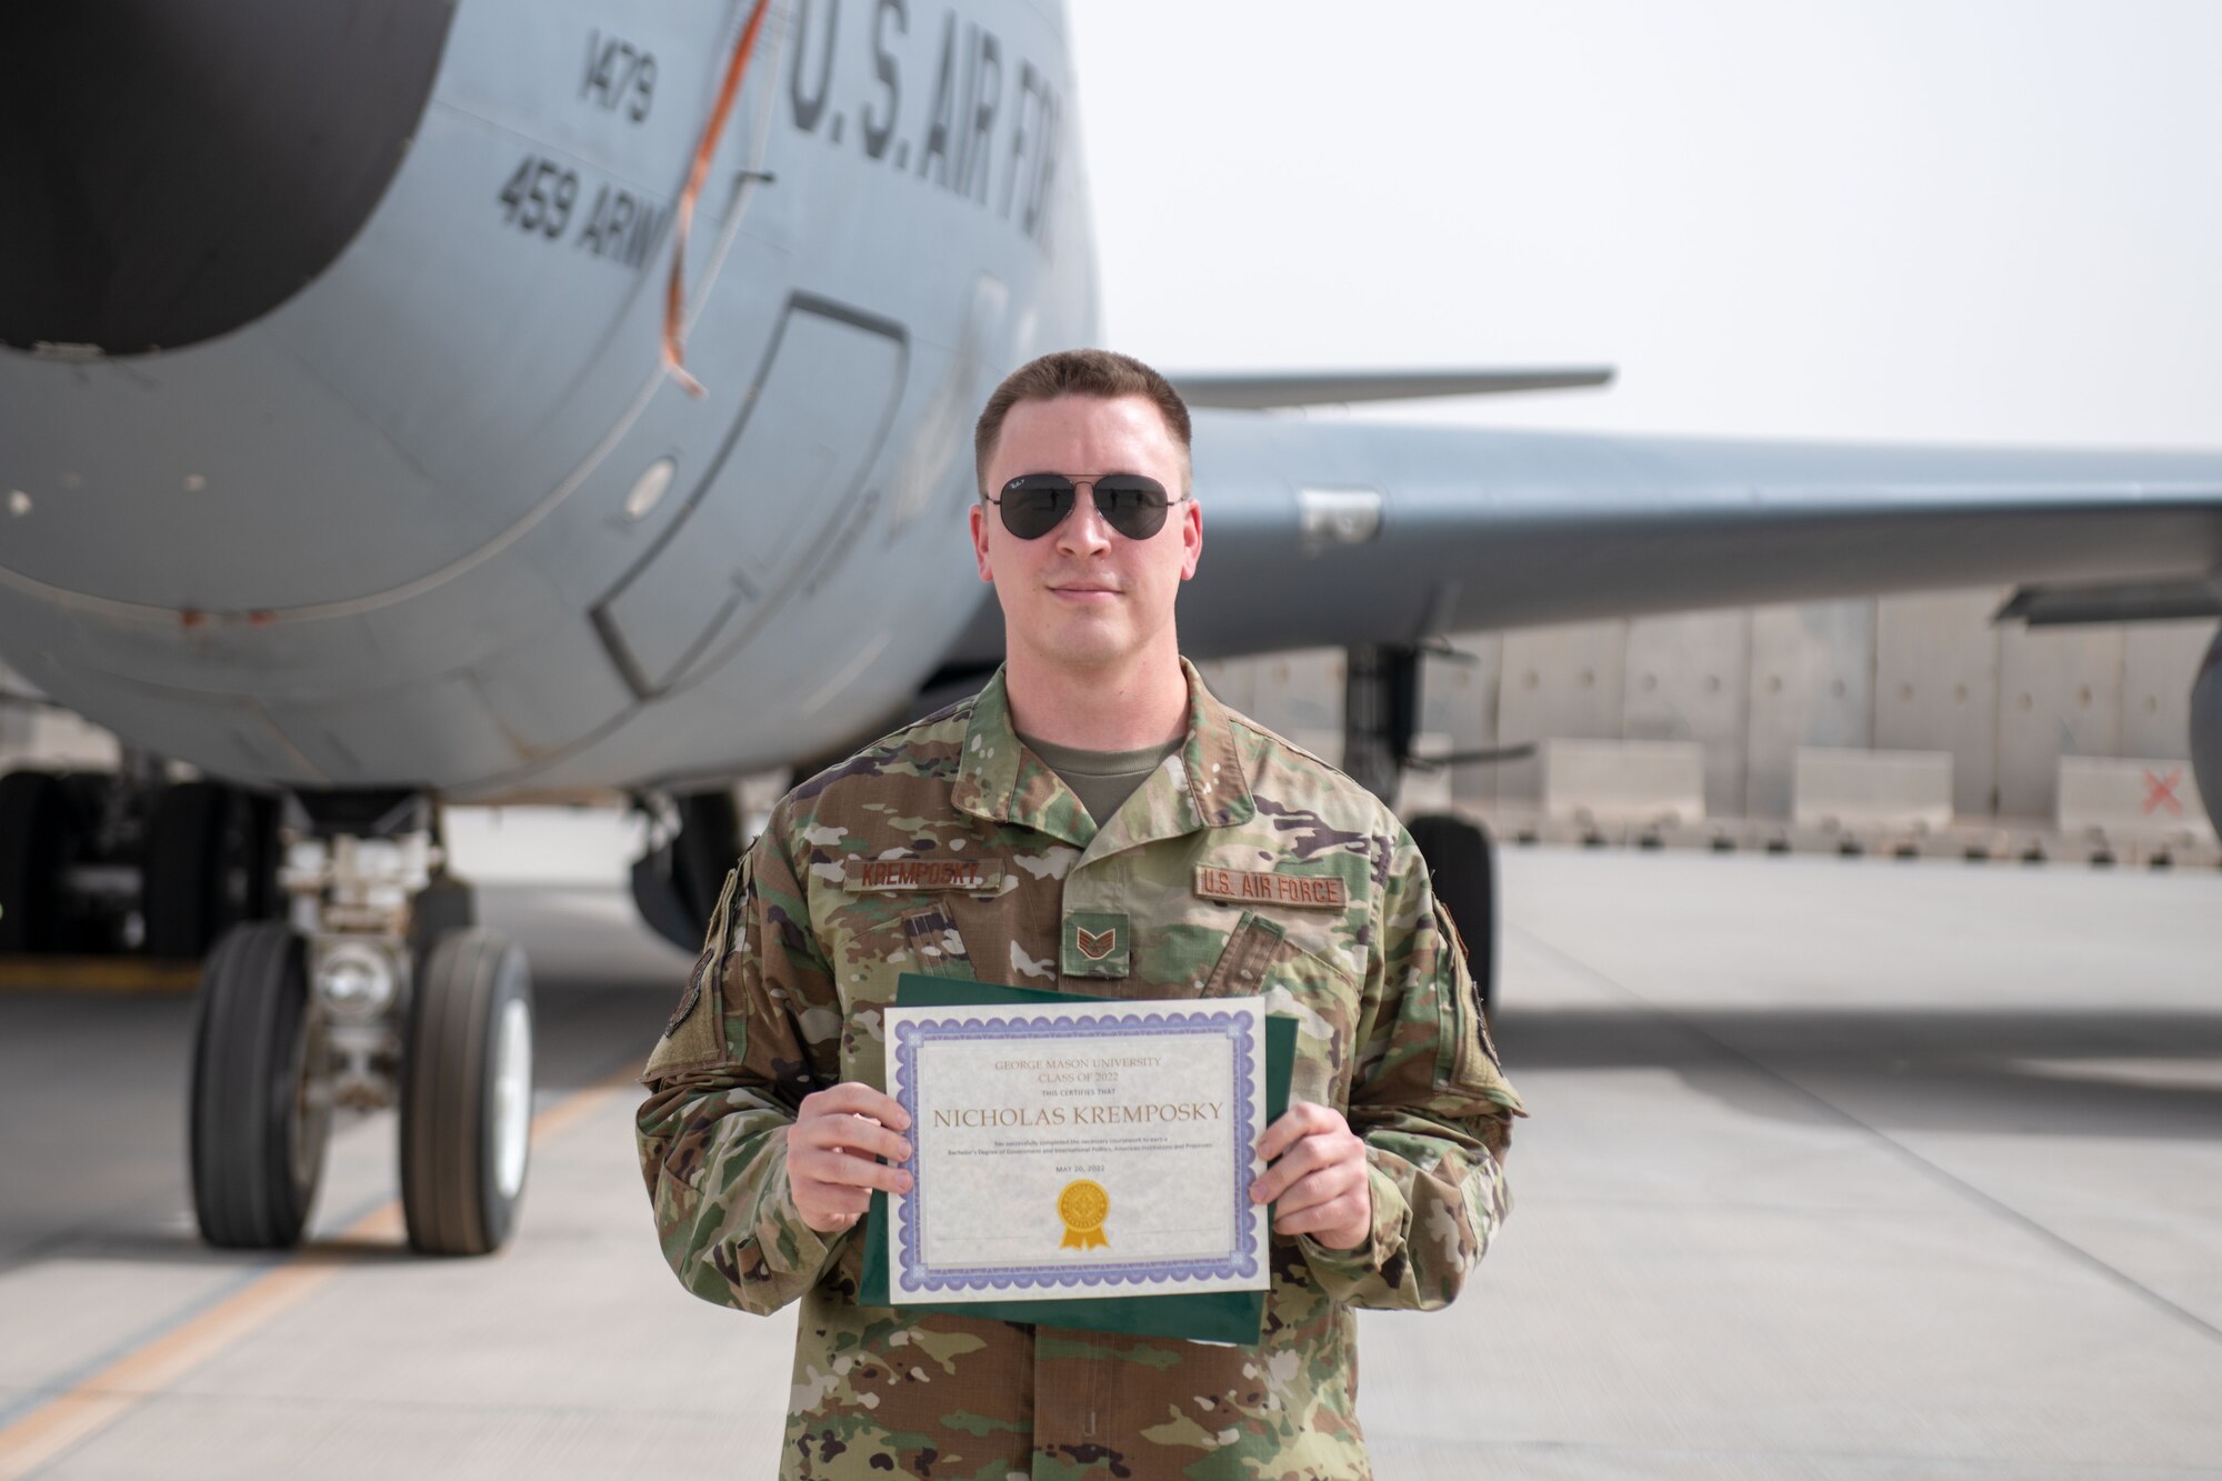
M 1251 1114 L 1258 1065 L 1251 1058 L 1251 1038 L 1258 1014 L 1249 1010 L 1213 1010 L 1193 1014 L 1091 1014 L 1089 1027 L 1102 1032 L 1118 1027 L 1135 1036 L 1213 1034 L 1233 1041 L 1235 1050 L 1235 1207 L 1249 1214 L 1251 1150 L 1258 1145 L 1258 1123 Z M 1127 1265 L 1073 1265 L 1049 1270 L 1042 1265 L 953 1265 L 929 1270 L 920 1250 L 920 1223 L 924 1216 L 924 1183 L 918 1179 L 918 1150 L 924 1127 L 918 1121 L 918 1050 L 933 1041 L 967 1038 L 1071 1038 L 1071 1018 L 1033 1018 L 1024 1014 L 993 1014 L 980 1018 L 944 1018 L 927 1023 L 902 1023 L 895 1030 L 895 1101 L 911 1116 L 911 1207 L 902 1219 L 902 1290 L 907 1292 L 1007 1292 L 1047 1290 L 1082 1285 L 1133 1285 L 1140 1281 L 1213 1281 L 1249 1279 L 1258 1274 L 1258 1219 L 1235 1216 L 1235 1250 L 1218 1259 L 1164 1259 L 1133 1261 Z

